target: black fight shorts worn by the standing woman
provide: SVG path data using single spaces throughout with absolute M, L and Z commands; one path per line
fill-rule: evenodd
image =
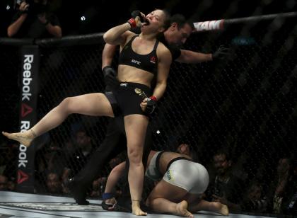
M 143 84 L 120 83 L 119 88 L 107 91 L 104 94 L 112 105 L 113 114 L 117 117 L 131 114 L 148 116 L 141 110 L 140 103 L 145 96 L 149 98 L 151 93 L 151 88 Z

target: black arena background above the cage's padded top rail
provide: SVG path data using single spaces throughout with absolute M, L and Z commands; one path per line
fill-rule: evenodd
M 170 13 L 182 13 L 193 22 L 296 11 L 295 0 L 49 1 L 50 10 L 61 22 L 64 36 L 105 32 L 127 21 L 129 13 L 135 9 L 148 13 L 154 8 L 167 8 Z M 6 37 L 14 0 L 1 0 L 0 4 L 0 36 Z M 81 21 L 82 16 L 86 18 L 84 21 Z

